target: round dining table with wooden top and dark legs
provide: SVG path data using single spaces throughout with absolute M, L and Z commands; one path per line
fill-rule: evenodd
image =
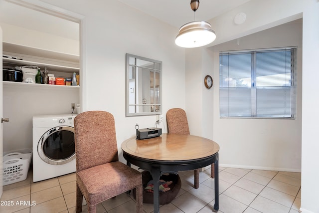
M 219 145 L 207 138 L 194 135 L 162 134 L 155 138 L 125 140 L 121 148 L 127 164 L 151 172 L 154 180 L 154 213 L 160 212 L 159 180 L 163 173 L 194 170 L 214 163 L 215 204 L 218 200 L 218 151 Z

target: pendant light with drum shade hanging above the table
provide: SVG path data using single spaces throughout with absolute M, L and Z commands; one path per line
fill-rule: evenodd
M 178 46 L 192 48 L 200 47 L 213 42 L 216 39 L 214 30 L 207 21 L 196 21 L 195 12 L 198 9 L 199 0 L 191 0 L 190 8 L 194 11 L 194 21 L 188 22 L 179 28 L 175 43 Z

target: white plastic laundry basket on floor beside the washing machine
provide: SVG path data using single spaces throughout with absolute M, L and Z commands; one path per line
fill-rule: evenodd
M 3 156 L 3 186 L 24 181 L 26 179 L 31 157 L 32 149 L 26 151 L 23 150 L 21 152 L 12 152 Z

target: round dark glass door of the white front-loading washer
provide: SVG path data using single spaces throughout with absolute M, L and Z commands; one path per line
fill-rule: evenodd
M 48 130 L 40 138 L 37 151 L 46 163 L 62 165 L 75 158 L 74 128 L 58 126 Z

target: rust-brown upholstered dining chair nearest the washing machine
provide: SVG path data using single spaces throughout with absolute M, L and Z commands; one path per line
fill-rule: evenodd
M 89 213 L 96 205 L 136 188 L 136 212 L 143 212 L 142 174 L 119 161 L 114 117 L 87 111 L 74 119 L 76 212 L 83 196 Z

